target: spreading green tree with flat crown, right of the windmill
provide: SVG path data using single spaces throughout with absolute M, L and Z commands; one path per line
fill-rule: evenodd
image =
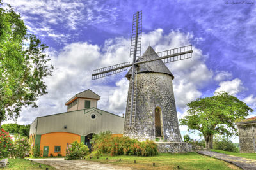
M 187 125 L 190 132 L 200 131 L 206 148 L 212 148 L 215 134 L 227 137 L 237 135 L 234 122 L 253 111 L 227 92 L 216 92 L 212 97 L 198 98 L 187 105 L 188 115 L 180 119 L 180 125 Z

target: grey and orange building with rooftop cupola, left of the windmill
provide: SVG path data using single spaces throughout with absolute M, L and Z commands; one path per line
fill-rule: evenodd
M 97 108 L 99 99 L 88 89 L 65 103 L 67 112 L 37 117 L 29 131 L 31 145 L 39 145 L 42 156 L 65 156 L 67 145 L 73 141 L 90 146 L 92 135 L 104 131 L 122 136 L 124 117 Z

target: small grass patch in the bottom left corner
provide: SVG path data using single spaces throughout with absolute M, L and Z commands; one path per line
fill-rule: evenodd
M 46 167 L 50 169 L 55 169 L 52 166 L 47 166 L 45 164 L 38 164 L 36 162 L 30 162 L 30 160 L 26 159 L 10 159 L 8 158 L 9 165 L 7 165 L 4 169 L 45 169 Z M 39 167 L 41 165 L 41 167 Z

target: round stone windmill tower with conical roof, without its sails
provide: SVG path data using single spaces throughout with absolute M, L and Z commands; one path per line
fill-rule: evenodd
M 157 53 L 151 46 L 138 61 L 158 59 Z M 164 65 L 162 60 L 156 60 L 151 64 L 141 64 L 136 74 L 136 113 L 132 116 L 131 125 L 131 81 L 132 69 L 126 77 L 130 80 L 127 97 L 126 119 L 124 135 L 140 140 L 155 139 L 162 137 L 167 141 L 181 142 L 178 118 L 175 107 L 171 71 Z

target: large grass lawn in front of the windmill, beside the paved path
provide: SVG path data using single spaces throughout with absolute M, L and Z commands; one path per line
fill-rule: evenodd
M 108 160 L 106 158 L 108 157 Z M 119 161 L 121 159 L 121 161 Z M 159 155 L 153 157 L 137 157 L 119 155 L 115 157 L 109 157 L 103 155 L 102 157 L 93 157 L 92 159 L 86 159 L 95 162 L 101 162 L 105 164 L 115 164 L 122 167 L 132 167 L 134 169 L 211 169 L 211 170 L 224 170 L 224 169 L 239 169 L 238 167 L 228 164 L 227 162 L 199 155 L 198 153 L 159 153 Z M 136 160 L 136 163 L 134 163 Z M 156 166 L 153 166 L 153 162 Z

